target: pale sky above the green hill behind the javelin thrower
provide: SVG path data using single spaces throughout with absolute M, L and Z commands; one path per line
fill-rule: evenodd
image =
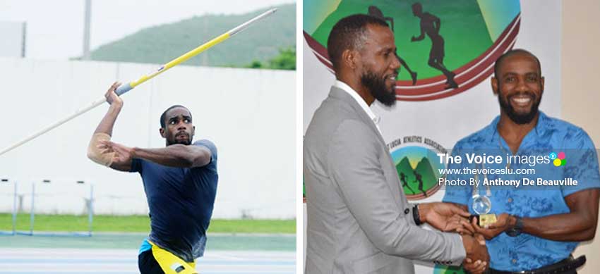
M 194 15 L 239 14 L 291 3 L 295 1 L 92 0 L 90 48 L 93 51 L 145 27 Z M 27 23 L 26 58 L 81 56 L 84 17 L 85 0 L 0 0 L 0 22 Z

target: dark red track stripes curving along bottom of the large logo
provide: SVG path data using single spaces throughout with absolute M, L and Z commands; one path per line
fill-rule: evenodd
M 447 92 L 443 92 L 445 89 L 446 79 L 444 75 L 438 75 L 436 77 L 417 80 L 416 83 L 419 85 L 429 85 L 432 83 L 441 82 L 437 85 L 421 88 L 419 88 L 419 85 L 412 86 L 412 82 L 409 80 L 402 80 L 397 81 L 396 99 L 399 101 L 427 101 L 442 99 L 448 96 L 458 94 L 460 92 L 464 92 L 467 89 L 478 85 L 480 82 L 486 80 L 486 78 L 493 73 L 493 68 L 490 68 L 490 66 L 496 61 L 496 59 L 505 51 L 508 51 L 512 48 L 512 44 L 514 44 L 517 34 L 519 33 L 519 28 L 520 13 L 517 14 L 514 19 L 512 19 L 512 22 L 505 28 L 502 34 L 500 34 L 500 37 L 496 39 L 496 42 L 494 42 L 494 44 L 490 46 L 483 54 L 480 54 L 477 58 L 473 59 L 472 61 L 469 61 L 469 63 L 466 63 L 464 66 L 457 68 L 456 70 L 452 70 L 453 73 L 459 75 L 460 73 L 471 69 L 469 70 L 469 73 L 455 77 L 455 81 L 459 85 L 458 88 L 449 89 Z M 308 46 L 310 46 L 311 49 L 313 49 L 313 54 L 315 54 L 318 60 L 321 63 L 323 63 L 323 65 L 327 66 L 328 68 L 330 68 L 330 70 L 332 70 L 333 68 L 330 64 L 329 56 L 327 54 L 327 49 L 325 49 L 325 46 L 321 45 L 306 32 L 304 32 L 304 39 L 306 40 Z M 491 52 L 493 52 L 493 54 L 486 58 L 486 56 Z M 479 63 L 479 61 L 482 62 Z M 477 63 L 479 63 L 479 65 L 477 65 Z M 481 73 L 482 71 L 484 71 L 484 73 Z M 479 73 L 481 73 L 481 75 L 479 75 Z M 476 75 L 479 75 L 479 77 L 476 77 Z M 472 79 L 472 77 L 476 77 L 476 79 Z M 465 84 L 465 82 L 467 81 L 469 82 Z M 407 89 L 402 87 L 416 88 Z M 427 94 L 431 94 L 431 96 L 426 96 Z

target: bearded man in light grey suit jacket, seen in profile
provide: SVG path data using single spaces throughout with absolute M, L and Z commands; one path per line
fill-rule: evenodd
M 414 273 L 412 260 L 457 266 L 465 257 L 484 270 L 488 254 L 474 237 L 419 227 L 468 228 L 462 217 L 469 213 L 408 203 L 369 108 L 396 101 L 400 63 L 388 24 L 370 15 L 342 18 L 328 55 L 336 80 L 304 138 L 306 273 Z

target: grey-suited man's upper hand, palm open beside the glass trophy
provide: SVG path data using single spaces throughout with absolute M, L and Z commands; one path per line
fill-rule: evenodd
M 433 228 L 444 232 L 453 231 L 469 235 L 475 232 L 467 219 L 471 214 L 455 204 L 434 202 L 419 204 L 418 208 L 421 221 L 428 223 Z

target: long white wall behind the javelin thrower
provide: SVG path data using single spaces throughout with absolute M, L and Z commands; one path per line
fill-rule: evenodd
M 155 68 L 0 58 L 0 147 L 88 106 L 113 81 L 135 80 Z M 123 96 L 113 140 L 132 147 L 164 147 L 158 133 L 160 114 L 173 104 L 187 106 L 196 125 L 195 139 L 210 139 L 219 150 L 214 218 L 295 218 L 295 81 L 291 71 L 178 66 Z M 64 201 L 81 198 L 70 197 L 76 195 L 60 185 L 85 180 L 95 184 L 96 213 L 148 213 L 137 173 L 110 170 L 85 156 L 107 108 L 99 106 L 1 155 L 0 178 L 18 180 L 24 193 L 30 192 L 33 180 L 53 180 L 55 190 L 66 189 L 56 191 Z M 0 211 L 11 210 L 10 193 L 11 187 L 0 187 Z M 36 208 L 74 213 L 83 208 L 59 201 Z

